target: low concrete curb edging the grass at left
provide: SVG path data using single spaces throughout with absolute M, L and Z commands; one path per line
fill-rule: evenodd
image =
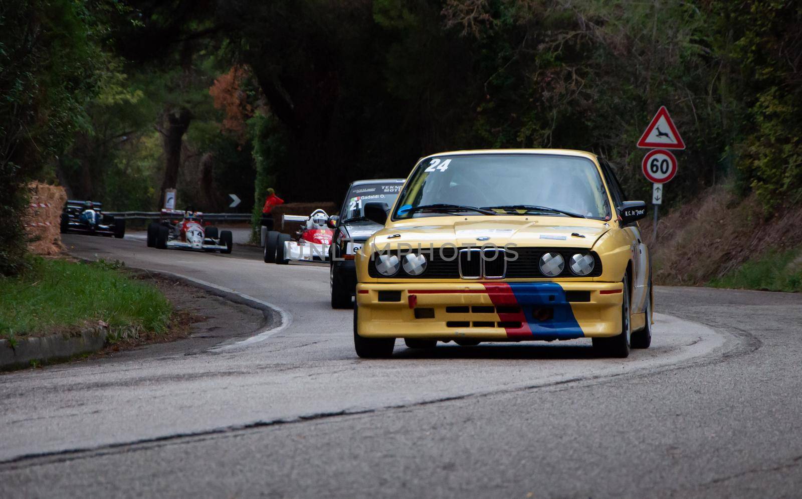
M 31 362 L 50 363 L 71 359 L 75 355 L 93 353 L 106 345 L 106 327 L 91 327 L 79 335 L 57 334 L 39 338 L 0 339 L 0 371 L 30 367 Z

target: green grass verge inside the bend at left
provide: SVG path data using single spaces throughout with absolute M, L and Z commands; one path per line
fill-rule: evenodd
M 171 303 L 121 266 L 35 258 L 21 277 L 0 278 L 0 338 L 70 333 L 99 321 L 108 325 L 111 341 L 163 334 Z

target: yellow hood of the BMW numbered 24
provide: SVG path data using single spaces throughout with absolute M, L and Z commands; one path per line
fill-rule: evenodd
M 426 217 L 395 222 L 376 233 L 373 242 L 391 248 L 452 243 L 589 249 L 610 228 L 606 221 L 569 217 Z

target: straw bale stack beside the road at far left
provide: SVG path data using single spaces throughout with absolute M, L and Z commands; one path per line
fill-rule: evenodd
M 67 202 L 67 193 L 57 185 L 33 183 L 28 187 L 30 205 L 23 220 L 28 250 L 34 254 L 59 254 L 63 250 L 61 212 Z

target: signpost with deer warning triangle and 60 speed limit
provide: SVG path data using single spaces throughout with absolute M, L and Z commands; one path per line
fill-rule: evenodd
M 663 184 L 677 174 L 677 158 L 668 149 L 684 149 L 685 142 L 679 136 L 674 120 L 666 106 L 660 106 L 646 131 L 638 140 L 638 148 L 651 149 L 641 162 L 643 176 L 652 183 L 652 205 L 654 205 L 653 241 L 657 241 L 658 208 L 662 205 Z

